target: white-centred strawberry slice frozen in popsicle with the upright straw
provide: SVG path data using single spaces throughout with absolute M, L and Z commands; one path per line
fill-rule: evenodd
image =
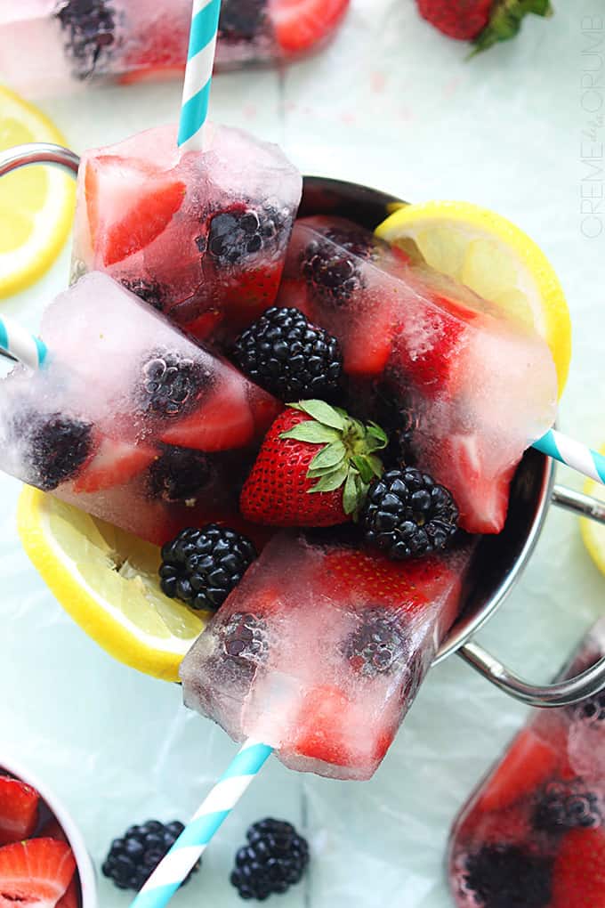
M 160 236 L 179 211 L 185 183 L 147 163 L 107 154 L 89 161 L 84 193 L 91 240 L 110 266 Z

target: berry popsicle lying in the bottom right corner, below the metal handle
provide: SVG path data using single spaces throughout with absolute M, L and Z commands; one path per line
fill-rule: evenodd
M 601 619 L 562 676 L 603 655 Z M 458 816 L 449 875 L 458 908 L 605 904 L 605 692 L 532 714 Z

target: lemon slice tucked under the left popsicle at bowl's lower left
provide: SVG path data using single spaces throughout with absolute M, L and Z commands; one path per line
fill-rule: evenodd
M 93 640 L 127 666 L 178 680 L 210 613 L 163 595 L 157 546 L 28 486 L 17 523 L 34 567 Z

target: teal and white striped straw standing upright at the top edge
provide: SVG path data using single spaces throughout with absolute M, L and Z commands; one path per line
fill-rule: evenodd
M 199 151 L 202 147 L 202 127 L 208 116 L 219 14 L 220 0 L 193 0 L 177 140 L 184 152 Z

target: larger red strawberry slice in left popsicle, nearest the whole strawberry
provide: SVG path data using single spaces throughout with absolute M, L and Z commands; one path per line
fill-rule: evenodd
M 224 451 L 244 448 L 254 438 L 254 419 L 248 388 L 239 377 L 220 382 L 220 390 L 205 397 L 198 410 L 171 426 L 161 440 L 181 448 Z

